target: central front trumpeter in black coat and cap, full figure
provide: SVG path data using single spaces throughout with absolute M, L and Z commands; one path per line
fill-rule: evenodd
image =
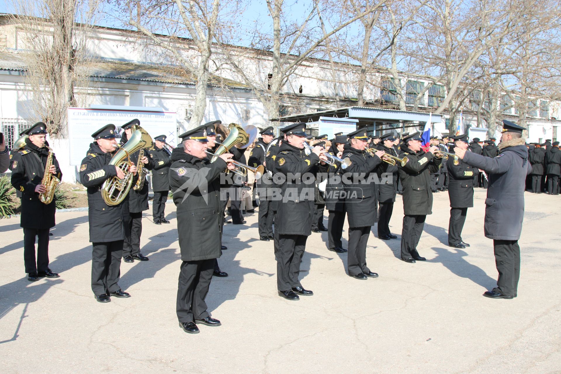
M 305 123 L 291 124 L 280 131 L 284 133 L 284 141 L 274 158 L 273 170 L 274 174 L 285 177 L 279 186 L 282 200 L 275 201 L 273 206 L 277 288 L 281 297 L 298 300 L 298 295 L 314 294 L 304 289 L 298 280 L 314 212 L 314 186 L 299 178 L 312 173 L 320 159 L 326 157 L 321 154 L 321 147 L 314 147 L 310 155 L 305 154 Z

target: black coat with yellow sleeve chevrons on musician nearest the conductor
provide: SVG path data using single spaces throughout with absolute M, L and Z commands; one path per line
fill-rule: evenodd
M 473 207 L 473 167 L 463 163 L 462 160 L 454 160 L 453 157 L 449 157 L 446 164 L 448 167 L 450 207 Z

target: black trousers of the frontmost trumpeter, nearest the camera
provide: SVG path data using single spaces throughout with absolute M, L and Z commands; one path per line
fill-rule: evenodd
M 176 304 L 180 322 L 202 320 L 209 316 L 205 298 L 209 292 L 214 262 L 215 258 L 181 262 Z

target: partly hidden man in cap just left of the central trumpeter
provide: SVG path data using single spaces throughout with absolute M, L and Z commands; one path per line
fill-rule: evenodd
M 273 127 L 269 126 L 259 132 L 261 137 L 251 151 L 247 163 L 252 168 L 264 165 L 266 169 L 265 154 L 267 147 L 274 138 Z M 261 179 L 257 180 L 255 187 L 259 196 L 259 239 L 268 242 L 273 239 L 273 210 L 270 208 L 270 193 L 273 188 L 273 177 L 265 172 Z

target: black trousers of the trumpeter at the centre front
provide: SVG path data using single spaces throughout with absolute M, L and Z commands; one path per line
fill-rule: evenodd
M 300 275 L 300 261 L 304 256 L 307 238 L 305 235 L 278 235 L 275 257 L 277 258 L 277 288 L 279 291 L 302 287 L 298 275 Z

